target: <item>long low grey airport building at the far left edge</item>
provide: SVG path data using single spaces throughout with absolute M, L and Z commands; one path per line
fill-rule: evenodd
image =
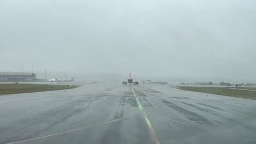
M 0 81 L 33 81 L 37 76 L 34 73 L 0 72 Z

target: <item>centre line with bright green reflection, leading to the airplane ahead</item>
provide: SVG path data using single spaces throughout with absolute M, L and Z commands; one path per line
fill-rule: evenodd
M 135 92 L 133 91 L 132 86 L 131 86 L 131 90 L 132 90 L 132 92 L 133 92 L 133 94 L 134 94 L 134 96 L 135 96 L 135 99 L 136 99 L 137 104 L 138 104 L 138 106 L 139 106 L 139 110 L 141 110 L 141 112 L 142 112 L 143 115 L 144 115 L 144 118 L 145 118 L 146 122 L 148 123 L 148 127 L 149 127 L 149 129 L 150 129 L 151 134 L 152 134 L 152 140 L 153 140 L 156 144 L 160 144 L 160 141 L 159 141 L 159 139 L 158 139 L 158 136 L 155 134 L 155 130 L 153 129 L 151 123 L 149 122 L 148 116 L 147 116 L 146 112 L 143 110 L 143 107 L 141 106 L 141 103 L 139 103 L 139 100 L 138 100 L 138 98 L 137 98 L 137 95 L 136 95 Z

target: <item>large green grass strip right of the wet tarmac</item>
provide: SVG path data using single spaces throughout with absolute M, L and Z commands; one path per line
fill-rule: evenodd
M 177 88 L 185 91 L 218 94 L 218 95 L 225 95 L 225 96 L 236 97 L 236 98 L 256 100 L 255 91 L 245 91 L 245 90 L 222 88 L 222 87 L 177 87 Z

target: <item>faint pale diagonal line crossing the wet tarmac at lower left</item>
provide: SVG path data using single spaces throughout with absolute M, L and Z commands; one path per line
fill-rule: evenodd
M 136 114 L 136 113 L 133 113 L 133 114 L 131 114 L 131 115 L 135 115 L 135 114 Z M 131 115 L 129 115 L 129 116 L 131 116 Z M 103 125 L 103 124 L 107 124 L 107 123 L 117 122 L 117 121 L 120 121 L 121 119 L 127 118 L 127 117 L 129 117 L 129 116 L 122 117 L 122 118 L 118 118 L 118 119 L 114 119 L 114 120 L 112 120 L 112 121 L 108 121 L 108 122 L 104 122 L 104 123 L 100 123 L 100 124 L 91 125 L 91 126 L 84 127 L 84 128 L 79 128 L 79 129 L 64 131 L 64 132 L 62 132 L 62 133 L 57 133 L 57 134 L 52 134 L 52 135 L 45 135 L 45 136 L 35 137 L 35 138 L 32 138 L 32 139 L 27 139 L 27 140 L 9 142 L 9 143 L 5 143 L 5 144 L 14 144 L 14 143 L 20 143 L 20 142 L 25 142 L 25 141 L 32 141 L 32 140 L 43 139 L 43 138 L 45 138 L 45 137 L 51 137 L 51 136 L 56 136 L 56 135 L 62 135 L 62 134 L 72 133 L 73 131 L 88 129 L 88 128 L 97 127 L 97 126 L 99 126 L 99 125 Z

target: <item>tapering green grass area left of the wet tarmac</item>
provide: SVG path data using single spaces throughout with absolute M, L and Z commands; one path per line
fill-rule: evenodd
M 44 91 L 56 91 L 61 89 L 71 89 L 79 86 L 66 86 L 66 85 L 36 85 L 36 84 L 0 84 L 0 95 L 15 94 L 15 93 L 32 93 Z

